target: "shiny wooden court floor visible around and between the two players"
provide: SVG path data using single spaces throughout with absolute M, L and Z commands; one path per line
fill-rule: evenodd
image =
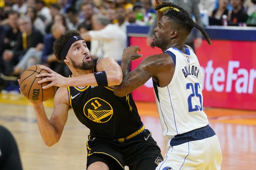
M 52 100 L 46 101 L 44 106 L 50 117 Z M 162 135 L 155 104 L 137 102 L 137 107 L 164 155 L 168 139 Z M 204 110 L 220 141 L 222 170 L 256 169 L 256 111 Z M 0 124 L 14 135 L 24 170 L 86 169 L 89 130 L 77 120 L 73 110 L 69 111 L 60 141 L 52 147 L 47 147 L 41 139 L 33 107 L 21 95 L 0 94 Z

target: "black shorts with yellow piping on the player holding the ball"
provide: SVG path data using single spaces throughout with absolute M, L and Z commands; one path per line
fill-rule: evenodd
M 101 161 L 109 170 L 123 170 L 124 166 L 130 170 L 155 170 L 163 160 L 160 148 L 147 129 L 123 143 L 89 136 L 87 152 L 87 168 Z

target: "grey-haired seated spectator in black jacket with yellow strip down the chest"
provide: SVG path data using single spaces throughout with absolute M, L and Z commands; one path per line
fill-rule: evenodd
M 18 20 L 21 33 L 18 35 L 17 45 L 12 50 L 5 50 L 3 60 L 5 61 L 5 75 L 12 73 L 15 66 L 31 47 L 42 50 L 43 34 L 32 27 L 31 19 L 28 16 L 22 16 Z

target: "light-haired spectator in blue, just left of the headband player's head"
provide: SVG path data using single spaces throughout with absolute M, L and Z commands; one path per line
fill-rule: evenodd
M 44 37 L 44 49 L 42 54 L 42 63 L 44 65 L 49 66 L 55 72 L 63 75 L 68 76 L 65 73 L 65 64 L 57 62 L 57 58 L 53 53 L 53 43 L 55 40 L 64 32 L 66 31 L 65 27 L 62 24 L 54 24 L 51 28 L 51 34 L 48 34 Z

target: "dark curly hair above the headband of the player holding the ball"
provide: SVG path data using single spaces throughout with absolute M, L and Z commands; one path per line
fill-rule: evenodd
M 53 52 L 59 62 L 62 62 L 60 53 L 66 41 L 72 36 L 81 36 L 79 31 L 69 30 L 60 35 L 58 39 L 53 43 Z

